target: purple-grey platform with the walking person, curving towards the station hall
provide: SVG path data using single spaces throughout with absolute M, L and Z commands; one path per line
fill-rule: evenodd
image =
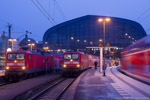
M 108 67 L 84 72 L 66 92 L 65 100 L 150 100 L 150 86 Z

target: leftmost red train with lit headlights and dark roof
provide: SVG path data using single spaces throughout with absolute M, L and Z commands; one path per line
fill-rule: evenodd
M 40 72 L 61 69 L 62 57 L 57 54 L 31 51 L 9 51 L 5 59 L 5 78 L 16 80 Z

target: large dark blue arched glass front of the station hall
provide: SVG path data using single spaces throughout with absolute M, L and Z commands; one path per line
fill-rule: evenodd
M 50 49 L 86 49 L 89 46 L 98 46 L 103 41 L 103 23 L 99 18 L 108 16 L 87 15 L 66 21 L 49 28 L 43 36 L 43 46 Z M 109 17 L 110 22 L 105 24 L 105 42 L 110 46 L 123 49 L 146 36 L 143 27 L 128 19 Z

